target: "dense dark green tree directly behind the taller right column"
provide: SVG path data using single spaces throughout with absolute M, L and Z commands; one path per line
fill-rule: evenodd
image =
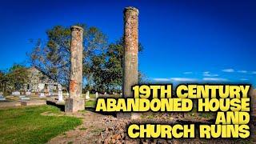
M 94 79 L 94 88 L 98 91 L 117 91 L 122 88 L 122 56 L 123 38 L 110 44 L 105 53 L 94 57 L 90 70 Z M 138 51 L 141 53 L 142 45 L 139 43 Z M 138 73 L 138 81 L 142 81 L 142 73 Z

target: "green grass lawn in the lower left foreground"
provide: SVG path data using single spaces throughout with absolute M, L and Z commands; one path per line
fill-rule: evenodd
M 45 116 L 60 110 L 54 106 L 22 107 L 0 110 L 0 143 L 45 143 L 58 134 L 82 124 L 67 116 Z

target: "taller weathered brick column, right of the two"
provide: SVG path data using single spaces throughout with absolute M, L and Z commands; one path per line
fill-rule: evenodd
M 138 9 L 134 7 L 124 10 L 124 46 L 122 94 L 128 98 L 133 96 L 131 86 L 138 84 Z

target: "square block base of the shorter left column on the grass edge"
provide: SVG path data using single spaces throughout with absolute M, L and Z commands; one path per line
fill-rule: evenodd
M 75 113 L 78 110 L 85 110 L 85 99 L 68 98 L 65 102 L 65 112 Z

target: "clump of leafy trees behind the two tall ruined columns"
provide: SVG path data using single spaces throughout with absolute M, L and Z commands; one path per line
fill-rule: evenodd
M 94 26 L 77 24 L 83 33 L 83 78 L 85 90 L 118 91 L 122 88 L 123 38 L 108 43 L 106 34 Z M 46 30 L 47 39 L 38 39 L 30 54 L 30 65 L 63 86 L 70 78 L 70 26 L 54 26 Z M 139 52 L 142 52 L 139 44 Z M 139 81 L 142 74 L 139 72 Z

